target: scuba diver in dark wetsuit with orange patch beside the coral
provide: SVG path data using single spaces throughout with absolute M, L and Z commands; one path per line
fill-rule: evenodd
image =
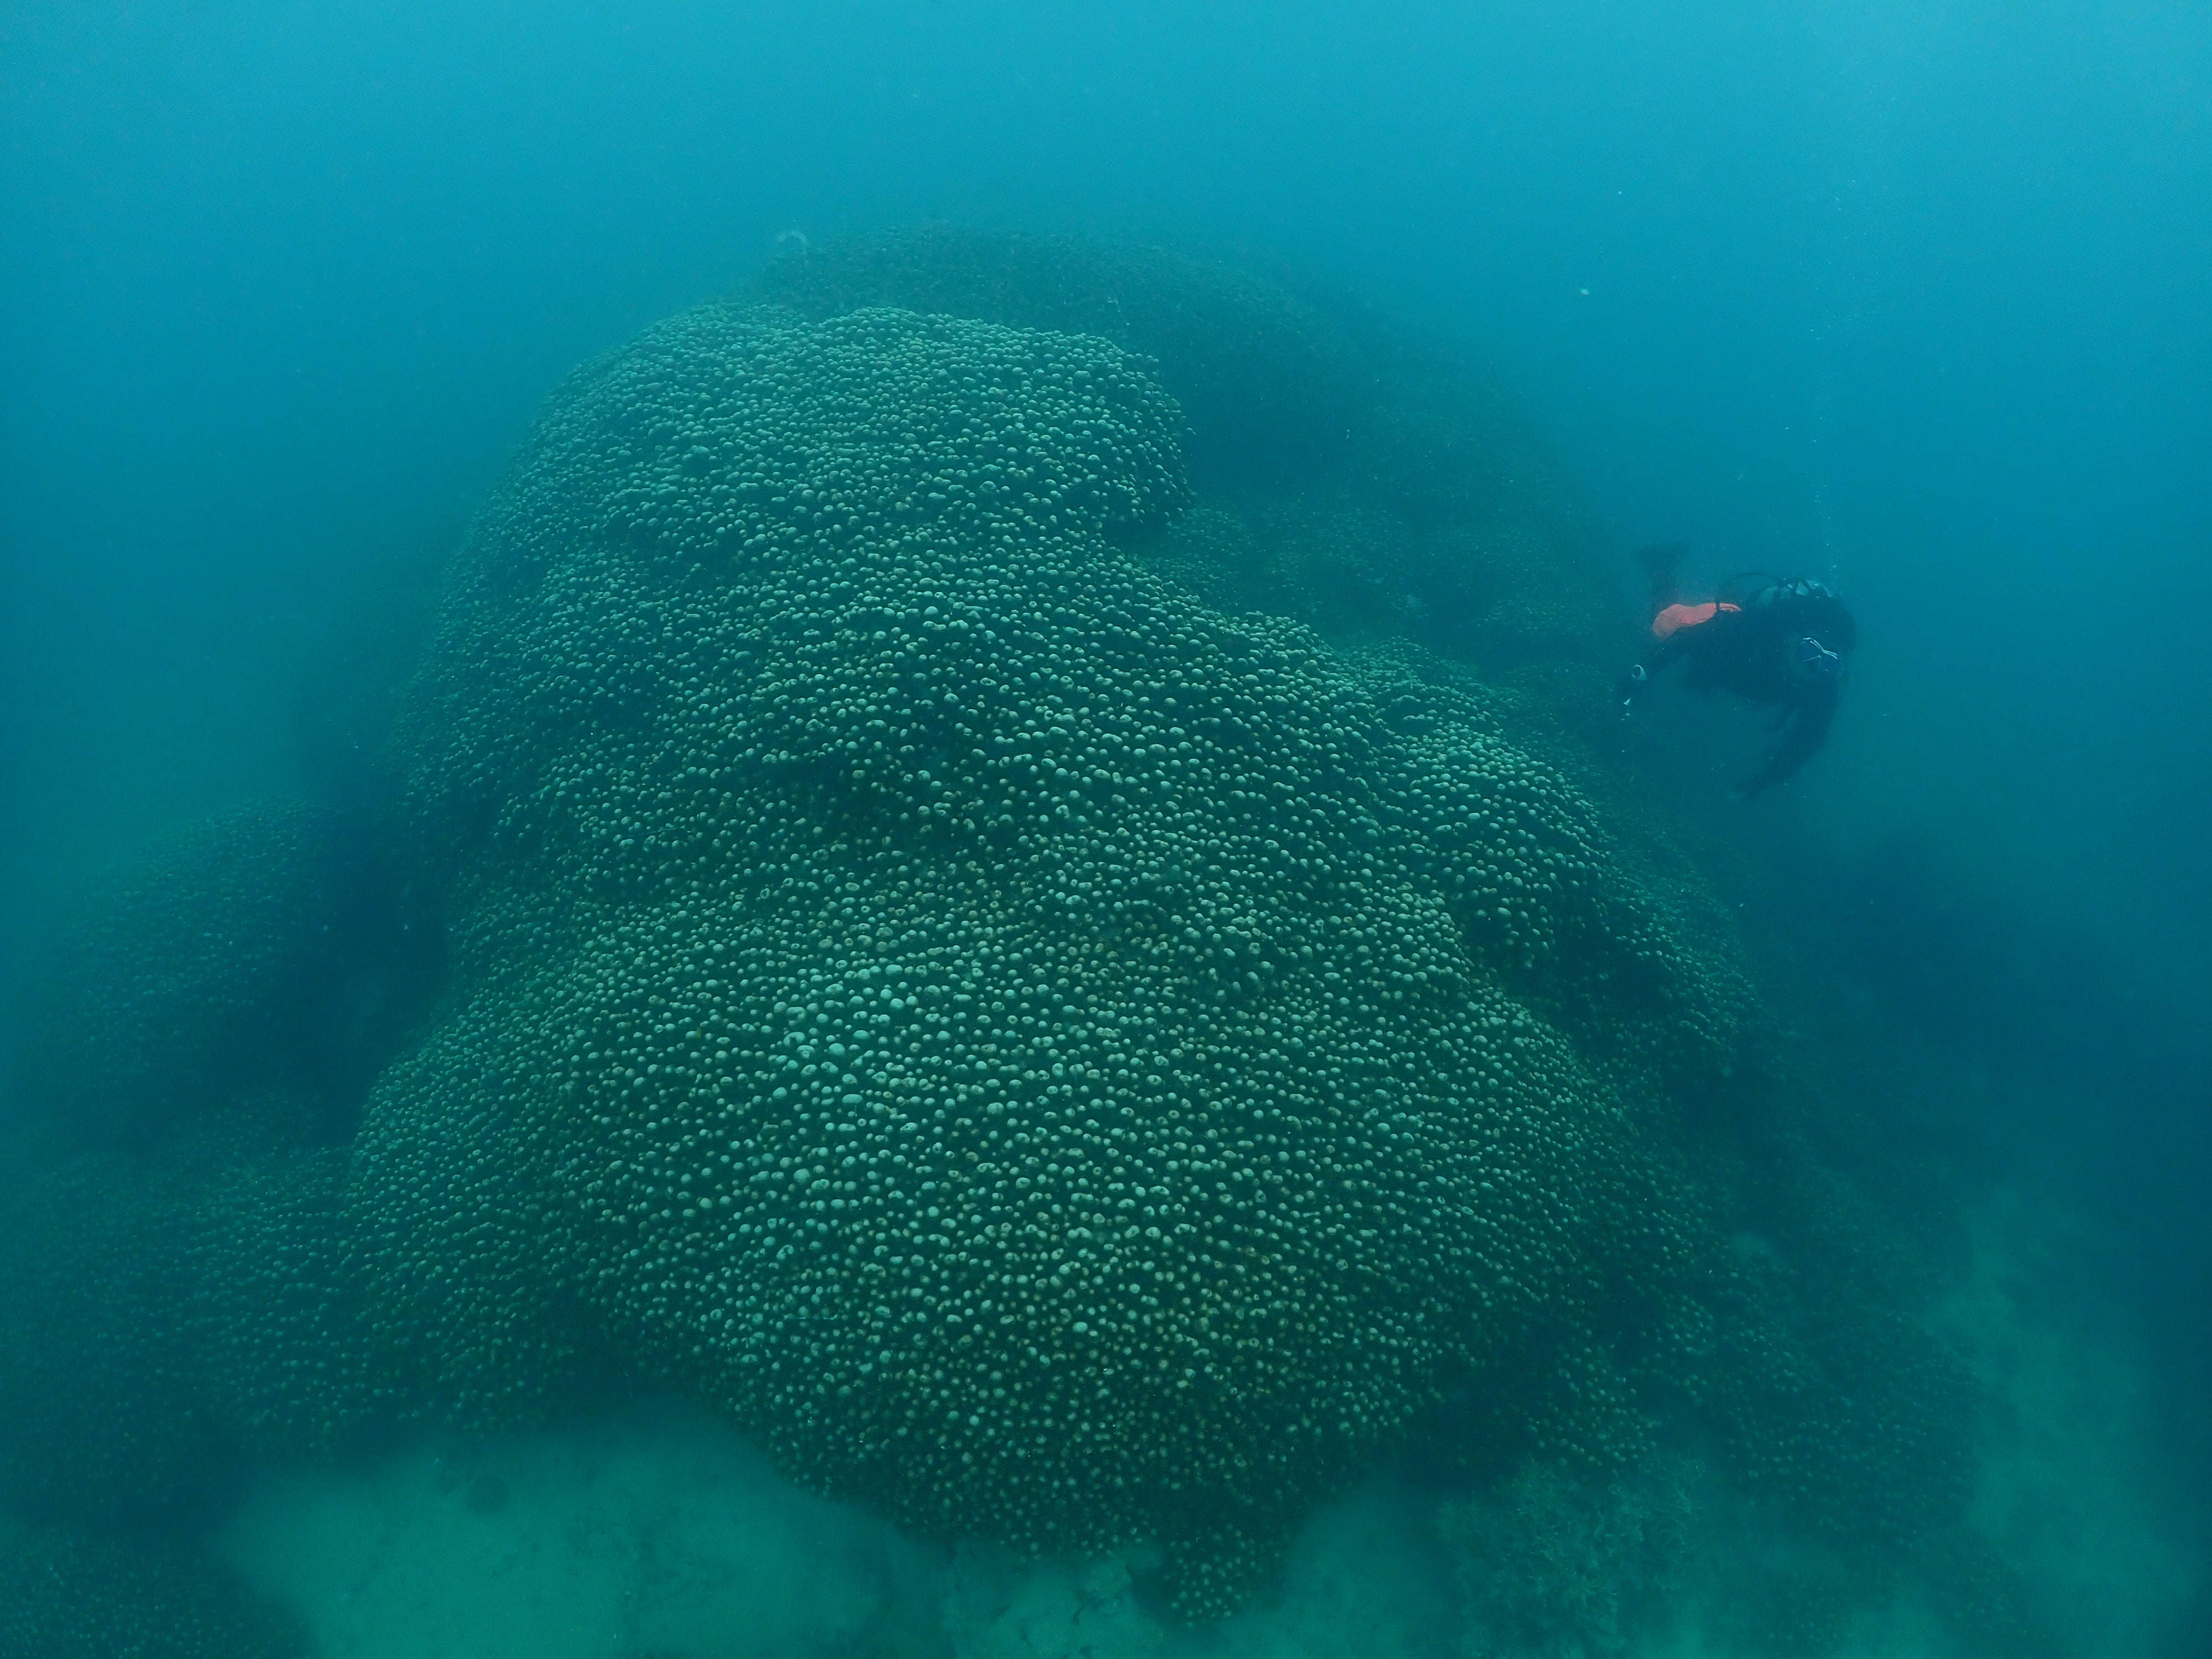
M 1728 577 L 1703 604 L 1683 604 L 1674 582 L 1683 553 L 1686 546 L 1668 544 L 1637 555 L 1652 580 L 1652 639 L 1659 644 L 1621 675 L 1621 719 L 1652 675 L 1674 661 L 1688 661 L 1681 684 L 1690 690 L 1725 690 L 1781 710 L 1774 743 L 1736 785 L 1750 799 L 1794 776 L 1827 741 L 1858 624 L 1823 582 L 1761 571 Z

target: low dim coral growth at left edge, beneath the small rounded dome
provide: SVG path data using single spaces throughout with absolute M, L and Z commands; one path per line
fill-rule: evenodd
M 190 1526 L 246 1453 L 325 1453 L 440 1409 L 372 1345 L 347 1159 L 288 1150 L 290 1106 L 246 1097 L 159 1157 L 0 1139 L 18 1172 L 0 1197 L 0 1506 Z

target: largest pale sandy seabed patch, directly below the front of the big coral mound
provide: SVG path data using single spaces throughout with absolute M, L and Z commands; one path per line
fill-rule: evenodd
M 1383 1491 L 1316 1517 L 1281 1595 L 1194 1635 L 1137 1606 L 1141 1557 L 916 1544 L 684 1411 L 276 1478 L 221 1551 L 323 1659 L 1385 1659 L 1438 1652 L 1449 1615 Z

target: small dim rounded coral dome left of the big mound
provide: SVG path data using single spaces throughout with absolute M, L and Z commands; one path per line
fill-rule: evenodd
M 157 841 L 64 911 L 11 1077 L 75 1148 L 343 1141 L 434 980 L 436 929 L 369 818 L 254 801 Z

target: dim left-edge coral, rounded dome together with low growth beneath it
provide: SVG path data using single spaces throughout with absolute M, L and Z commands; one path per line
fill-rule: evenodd
M 254 803 L 64 916 L 0 1117 L 0 1506 L 181 1522 L 241 1449 L 327 1447 L 407 1398 L 343 1203 L 365 1075 L 420 1002 L 369 841 Z

